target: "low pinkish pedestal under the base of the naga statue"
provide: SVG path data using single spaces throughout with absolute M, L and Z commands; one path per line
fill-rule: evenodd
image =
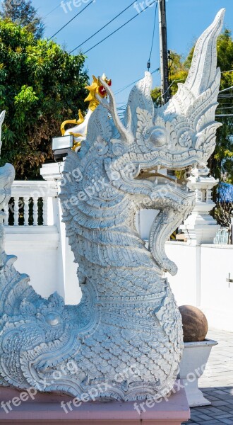
M 0 424 L 181 425 L 190 418 L 189 404 L 185 390 L 179 385 L 175 390 L 156 403 L 83 402 L 75 407 L 71 397 L 38 393 L 23 401 L 25 392 L 0 387 Z

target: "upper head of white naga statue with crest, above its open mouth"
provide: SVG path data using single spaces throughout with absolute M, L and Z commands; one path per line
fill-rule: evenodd
M 221 125 L 215 121 L 221 77 L 216 40 L 224 15 L 225 9 L 222 9 L 198 39 L 189 76 L 184 84 L 179 84 L 177 94 L 165 106 L 154 107 L 150 96 L 152 77 L 146 72 L 145 78 L 131 91 L 122 123 L 112 91 L 100 79 L 109 103 L 98 95 L 97 100 L 112 115 L 115 132 L 117 129 L 114 138 L 110 138 L 117 157 L 111 162 L 112 170 L 117 171 L 124 158 L 135 165 L 134 178 L 141 171 L 157 166 L 166 169 L 206 166 L 215 149 L 216 130 Z

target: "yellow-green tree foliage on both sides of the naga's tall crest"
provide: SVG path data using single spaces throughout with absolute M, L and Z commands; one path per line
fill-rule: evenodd
M 171 94 L 177 92 L 177 84 L 184 82 L 191 66 L 194 47 L 191 49 L 186 60 L 176 52 L 171 52 L 169 80 L 171 84 Z M 229 30 L 225 30 L 217 40 L 217 64 L 222 71 L 220 90 L 233 86 L 233 40 Z M 161 104 L 160 89 L 152 91 L 153 101 L 156 106 Z M 233 90 L 220 93 L 220 105 L 216 115 L 233 114 Z M 217 179 L 233 183 L 233 116 L 216 117 L 220 120 L 222 127 L 217 130 L 217 146 L 214 154 L 210 158 L 210 171 Z

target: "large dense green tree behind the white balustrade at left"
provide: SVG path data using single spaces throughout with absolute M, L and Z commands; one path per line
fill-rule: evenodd
M 55 42 L 0 20 L 1 163 L 13 164 L 16 178 L 37 179 L 52 159 L 51 140 L 61 123 L 85 111 L 84 62 L 83 55 L 68 55 Z

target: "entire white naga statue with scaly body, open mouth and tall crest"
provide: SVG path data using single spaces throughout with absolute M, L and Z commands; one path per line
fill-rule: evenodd
M 61 185 L 83 297 L 77 306 L 65 306 L 56 293 L 43 299 L 16 272 L 15 257 L 1 253 L 0 385 L 74 397 L 94 391 L 96 399 L 124 401 L 172 389 L 183 339 L 164 278 L 177 271 L 165 241 L 193 208 L 194 194 L 186 184 L 155 176 L 160 168 L 205 167 L 215 149 L 216 40 L 224 12 L 199 38 L 189 77 L 162 108 L 153 105 L 147 72 L 121 121 L 101 80 L 108 99 L 97 98 L 100 106 L 80 151 L 68 154 Z M 12 170 L 1 176 L 2 197 Z M 148 249 L 135 225 L 140 208 L 160 210 Z

